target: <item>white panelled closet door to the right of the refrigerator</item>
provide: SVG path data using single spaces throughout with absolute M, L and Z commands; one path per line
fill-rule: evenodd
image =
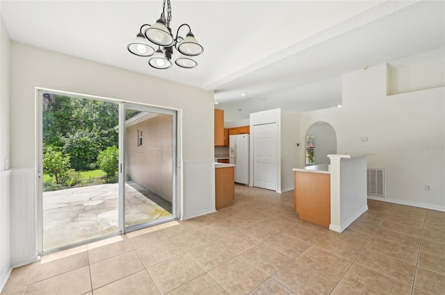
M 253 126 L 253 186 L 277 190 L 277 124 Z

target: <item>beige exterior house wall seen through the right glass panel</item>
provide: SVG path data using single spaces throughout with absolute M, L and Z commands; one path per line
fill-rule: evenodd
M 126 128 L 127 180 L 172 202 L 172 116 L 157 115 Z M 143 144 L 138 146 L 138 130 Z

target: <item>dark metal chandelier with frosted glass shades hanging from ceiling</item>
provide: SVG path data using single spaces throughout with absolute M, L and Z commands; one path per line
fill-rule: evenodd
M 165 3 L 167 3 L 167 17 L 165 17 Z M 192 69 L 197 66 L 197 62 L 193 60 L 193 56 L 199 56 L 204 48 L 197 42 L 195 35 L 193 35 L 188 24 L 181 24 L 179 26 L 176 36 L 173 37 L 170 28 L 170 21 L 172 20 L 172 7 L 170 0 L 163 0 L 161 18 L 156 21 L 156 24 L 150 26 L 143 24 L 140 26 L 136 40 L 131 42 L 127 49 L 136 56 L 149 57 L 148 64 L 155 69 L 168 69 L 172 66 L 173 47 L 181 55 L 175 60 L 175 64 L 179 67 Z M 179 29 L 183 26 L 188 27 L 186 37 L 179 36 Z M 154 50 L 152 44 L 158 46 Z M 162 47 L 162 49 L 161 49 Z M 155 46 L 156 48 L 156 46 Z

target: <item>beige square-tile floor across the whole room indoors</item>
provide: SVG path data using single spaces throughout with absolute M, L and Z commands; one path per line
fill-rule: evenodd
M 44 256 L 1 294 L 445 294 L 445 212 L 368 204 L 339 234 L 293 192 L 236 185 L 231 207 Z

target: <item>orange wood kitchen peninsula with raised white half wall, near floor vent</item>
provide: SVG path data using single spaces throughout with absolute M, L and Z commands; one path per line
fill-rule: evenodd
M 299 218 L 341 233 L 368 210 L 368 155 L 373 154 L 327 155 L 329 166 L 292 169 L 295 174 L 295 208 Z

